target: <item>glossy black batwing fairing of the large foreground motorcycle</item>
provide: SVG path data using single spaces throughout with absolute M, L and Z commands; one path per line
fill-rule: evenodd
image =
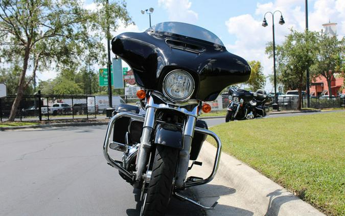
M 145 89 L 162 91 L 165 74 L 182 69 L 195 79 L 192 99 L 211 101 L 228 85 L 244 82 L 250 76 L 250 67 L 243 58 L 200 39 L 158 35 L 148 30 L 122 33 L 112 39 L 111 45 L 112 52 L 129 64 L 136 83 Z

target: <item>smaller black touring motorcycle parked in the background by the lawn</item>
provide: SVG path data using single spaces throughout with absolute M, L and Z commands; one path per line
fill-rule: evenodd
M 262 89 L 252 93 L 243 89 L 229 88 L 229 105 L 225 122 L 265 117 L 269 112 L 269 107 L 265 104 L 270 100 L 271 97 Z

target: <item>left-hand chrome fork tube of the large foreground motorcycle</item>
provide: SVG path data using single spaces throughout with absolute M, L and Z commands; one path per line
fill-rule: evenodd
M 148 107 L 144 121 L 143 134 L 140 140 L 139 152 L 136 158 L 135 180 L 139 182 L 143 177 L 143 170 L 147 163 L 147 158 L 151 148 L 151 135 L 154 127 L 156 109 Z

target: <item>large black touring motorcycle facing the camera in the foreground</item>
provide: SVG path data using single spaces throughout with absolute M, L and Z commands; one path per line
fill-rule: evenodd
M 216 175 L 221 143 L 197 120 L 209 112 L 205 101 L 217 98 L 228 85 L 249 78 L 247 62 L 226 51 L 222 41 L 203 28 L 177 22 L 157 24 L 142 33 L 122 33 L 111 41 L 112 52 L 132 68 L 145 114 L 119 113 L 111 118 L 103 145 L 108 164 L 141 189 L 141 215 L 163 215 L 176 196 L 205 209 L 179 193 L 206 184 Z M 213 170 L 206 179 L 187 177 L 203 141 L 217 142 Z M 109 150 L 123 152 L 114 160 Z M 191 166 L 189 167 L 189 162 Z

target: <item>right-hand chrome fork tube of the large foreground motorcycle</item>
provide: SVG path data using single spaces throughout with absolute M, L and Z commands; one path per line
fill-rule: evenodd
M 176 175 L 176 180 L 175 180 L 175 186 L 177 188 L 183 188 L 184 187 L 183 183 L 186 180 L 195 123 L 196 123 L 196 117 L 187 116 L 185 126 L 183 128 L 183 148 L 180 150 L 180 153 L 179 153 L 179 162 L 178 162 L 177 175 Z

